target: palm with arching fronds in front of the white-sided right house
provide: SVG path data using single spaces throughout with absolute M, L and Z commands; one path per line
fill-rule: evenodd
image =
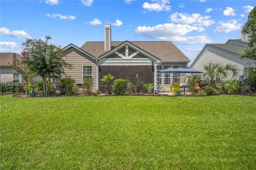
M 220 77 L 221 79 L 228 76 L 228 72 L 232 72 L 232 77 L 238 75 L 238 69 L 234 64 L 220 64 L 209 63 L 204 65 L 204 73 L 202 76 L 210 81 L 210 84 L 214 84 L 214 79 Z

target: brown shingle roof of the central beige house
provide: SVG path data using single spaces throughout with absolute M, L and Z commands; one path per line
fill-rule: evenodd
M 111 42 L 111 50 L 122 43 L 124 42 Z M 172 42 L 131 41 L 130 43 L 162 61 L 190 61 Z M 80 48 L 97 58 L 108 52 L 104 50 L 104 42 L 86 42 Z

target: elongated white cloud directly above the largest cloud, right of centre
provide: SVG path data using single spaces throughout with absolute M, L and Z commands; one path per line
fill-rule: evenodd
M 194 24 L 198 26 L 210 26 L 215 22 L 213 20 L 209 20 L 210 16 L 201 16 L 201 14 L 187 14 L 187 13 L 178 13 L 175 12 L 170 15 L 170 19 L 172 22 L 178 22 L 182 24 Z

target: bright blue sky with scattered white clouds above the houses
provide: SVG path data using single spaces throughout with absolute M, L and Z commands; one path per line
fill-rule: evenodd
M 206 43 L 241 39 L 255 0 L 0 0 L 0 52 L 20 54 L 26 38 L 65 47 L 104 41 L 172 41 L 192 61 Z

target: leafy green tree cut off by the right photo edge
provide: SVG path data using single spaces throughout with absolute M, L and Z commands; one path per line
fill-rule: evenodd
M 242 33 L 248 34 L 250 42 L 248 46 L 250 48 L 246 49 L 245 52 L 240 56 L 241 59 L 244 57 L 256 60 L 256 6 L 249 12 L 248 20 L 242 27 Z

